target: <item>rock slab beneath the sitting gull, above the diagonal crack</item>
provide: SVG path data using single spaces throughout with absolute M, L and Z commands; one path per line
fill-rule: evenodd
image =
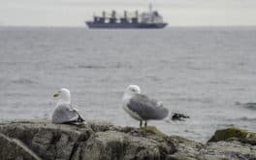
M 12 122 L 0 125 L 0 132 L 16 139 L 43 159 L 70 159 L 76 143 L 88 139 L 93 131 L 50 122 Z

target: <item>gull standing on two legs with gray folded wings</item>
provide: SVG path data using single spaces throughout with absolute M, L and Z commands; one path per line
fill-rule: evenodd
M 161 120 L 169 114 L 162 102 L 141 94 L 141 88 L 138 85 L 129 85 L 126 88 L 122 102 L 124 111 L 140 121 L 140 128 L 143 126 L 143 121 L 146 127 L 147 120 Z

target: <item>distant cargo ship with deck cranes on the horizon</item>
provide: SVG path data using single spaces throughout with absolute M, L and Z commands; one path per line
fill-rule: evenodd
M 93 21 L 85 21 L 89 28 L 164 28 L 167 22 L 157 11 L 152 10 L 149 5 L 149 11 L 139 14 L 138 11 L 128 13 L 124 11 L 123 16 L 118 16 L 115 11 L 111 14 L 103 11 L 102 16 L 93 16 Z

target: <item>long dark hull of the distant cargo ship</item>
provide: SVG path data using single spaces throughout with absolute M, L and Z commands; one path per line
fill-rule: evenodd
M 124 29 L 129 29 L 129 28 L 142 28 L 142 29 L 157 29 L 157 28 L 164 28 L 167 23 L 95 23 L 91 21 L 86 21 L 85 22 L 89 28 L 109 28 L 109 29 L 114 29 L 114 28 L 124 28 Z

